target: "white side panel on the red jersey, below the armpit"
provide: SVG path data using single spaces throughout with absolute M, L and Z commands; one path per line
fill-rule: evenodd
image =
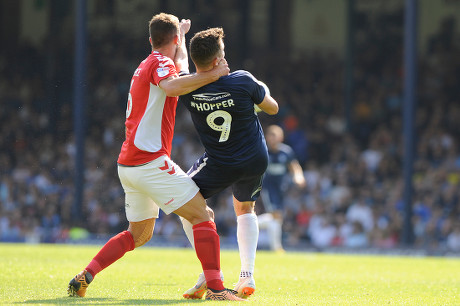
M 138 149 L 148 152 L 156 152 L 161 149 L 161 124 L 163 123 L 165 100 L 165 91 L 150 83 L 147 107 L 134 138 L 134 145 Z

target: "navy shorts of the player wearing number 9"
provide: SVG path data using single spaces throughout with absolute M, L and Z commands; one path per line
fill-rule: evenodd
M 231 186 L 238 201 L 255 201 L 262 190 L 262 179 L 267 165 L 268 158 L 263 154 L 235 166 L 219 164 L 204 153 L 187 174 L 198 185 L 205 199 Z

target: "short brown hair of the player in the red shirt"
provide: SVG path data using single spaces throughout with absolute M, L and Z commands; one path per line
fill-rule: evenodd
M 157 14 L 149 21 L 149 33 L 153 48 L 163 47 L 179 34 L 179 19 L 171 14 Z

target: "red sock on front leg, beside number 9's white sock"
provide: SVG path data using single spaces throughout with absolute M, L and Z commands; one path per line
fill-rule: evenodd
M 208 288 L 224 289 L 220 279 L 220 242 L 216 224 L 212 221 L 195 224 L 193 238 L 196 255 L 201 261 Z

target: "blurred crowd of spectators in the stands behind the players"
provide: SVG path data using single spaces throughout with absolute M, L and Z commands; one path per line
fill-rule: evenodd
M 228 59 L 232 69 L 248 69 L 269 85 L 280 113 L 262 114 L 260 120 L 264 127 L 283 127 L 285 142 L 304 169 L 307 187 L 292 186 L 286 195 L 287 248 L 402 245 L 402 15 L 357 18 L 350 122 L 339 55 L 318 50 L 280 61 L 278 53 L 263 52 L 244 67 L 233 67 Z M 460 40 L 455 28 L 454 19 L 440 24 L 426 50 L 420 50 L 417 74 L 414 246 L 443 252 L 460 252 Z M 51 76 L 45 48 L 24 45 L 14 56 L 2 54 L 0 241 L 67 242 L 127 227 L 116 159 L 129 80 L 149 46 L 115 32 L 89 38 L 80 209 L 74 203 L 68 50 L 56 49 L 57 72 Z M 145 48 L 132 51 L 133 45 Z M 172 157 L 187 170 L 203 149 L 186 110 L 179 106 L 177 112 Z M 211 201 L 220 234 L 236 241 L 230 193 Z M 263 213 L 263 203 L 257 203 L 257 211 Z M 183 235 L 177 217 L 161 215 L 154 235 Z

